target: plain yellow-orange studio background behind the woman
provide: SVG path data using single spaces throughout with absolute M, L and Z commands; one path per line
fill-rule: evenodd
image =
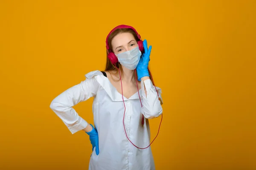
M 88 136 L 49 105 L 105 68 L 105 37 L 126 24 L 152 45 L 163 91 L 156 169 L 255 170 L 255 16 L 254 0 L 1 0 L 0 169 L 88 168 Z M 74 107 L 90 123 L 91 105 Z

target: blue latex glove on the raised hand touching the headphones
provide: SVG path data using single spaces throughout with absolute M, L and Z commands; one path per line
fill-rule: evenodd
M 140 61 L 136 68 L 139 81 L 141 81 L 142 77 L 145 77 L 145 76 L 149 77 L 148 62 L 150 61 L 149 56 L 151 53 L 152 46 L 150 45 L 148 48 L 147 40 L 144 40 L 143 47 L 144 47 L 144 53 L 141 55 Z

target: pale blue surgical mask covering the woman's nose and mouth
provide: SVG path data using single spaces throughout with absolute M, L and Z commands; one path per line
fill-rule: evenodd
M 136 47 L 130 51 L 125 51 L 123 53 L 115 55 L 117 56 L 117 59 L 120 62 L 120 64 L 122 64 L 130 70 L 134 70 L 140 61 L 141 51 L 139 47 Z

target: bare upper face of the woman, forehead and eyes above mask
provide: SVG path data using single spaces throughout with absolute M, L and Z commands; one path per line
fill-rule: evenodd
M 133 34 L 129 32 L 117 34 L 111 43 L 115 54 L 130 51 L 138 46 Z

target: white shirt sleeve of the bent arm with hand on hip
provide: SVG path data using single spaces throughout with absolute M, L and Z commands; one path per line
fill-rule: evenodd
M 84 129 L 88 125 L 73 109 L 73 106 L 95 96 L 98 88 L 99 83 L 94 77 L 86 78 L 52 100 L 50 108 L 64 122 L 72 134 Z

